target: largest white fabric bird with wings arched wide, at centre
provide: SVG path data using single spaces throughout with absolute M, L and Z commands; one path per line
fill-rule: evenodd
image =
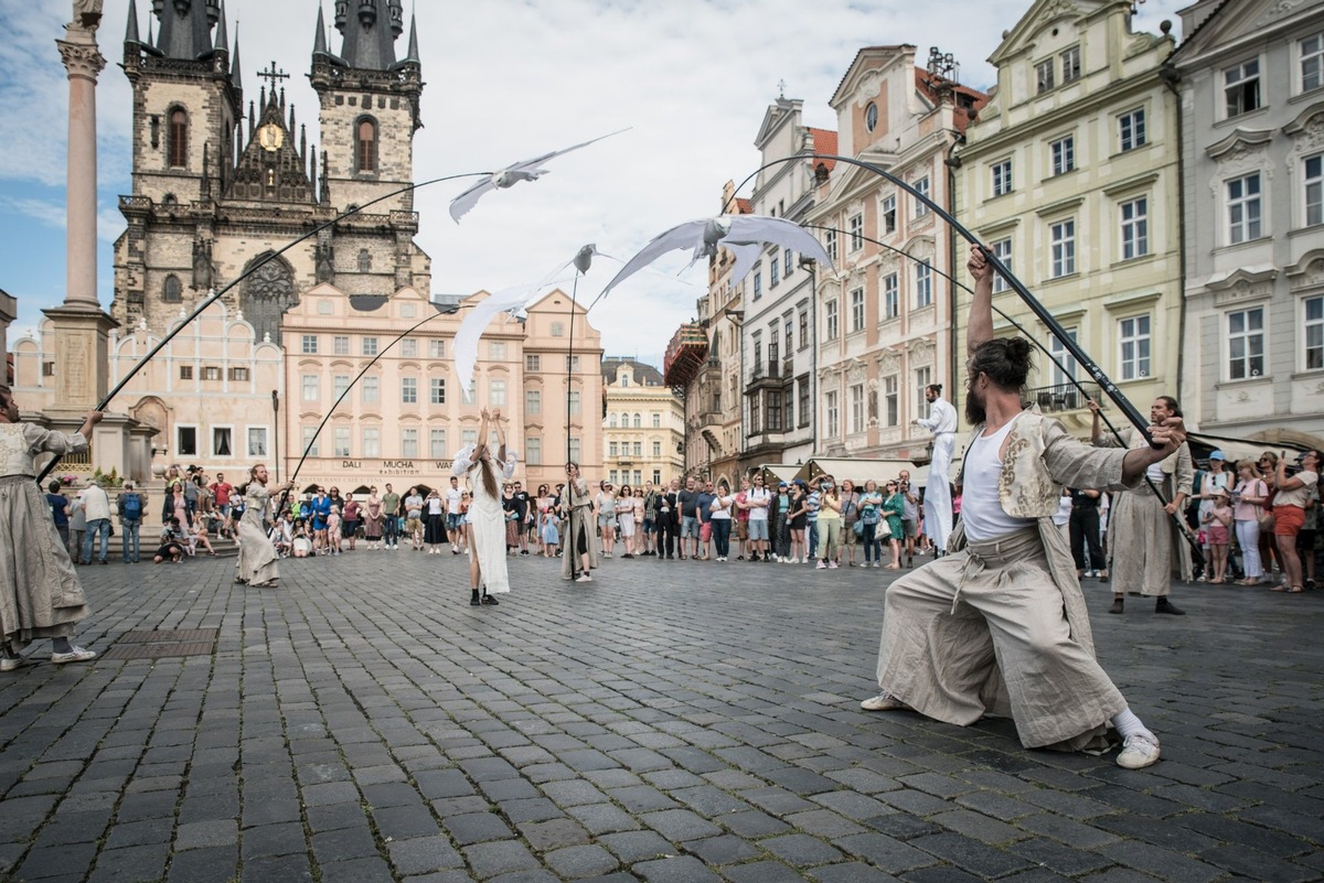
M 764 246 L 769 243 L 798 251 L 831 267 L 831 258 L 828 256 L 822 243 L 798 223 L 785 218 L 724 214 L 718 218 L 687 221 L 655 237 L 653 242 L 639 250 L 639 254 L 621 267 L 621 272 L 616 274 L 612 282 L 606 283 L 606 288 L 602 289 L 598 299 L 605 297 L 612 288 L 666 252 L 679 249 L 694 249 L 691 267 L 699 258 L 711 258 L 718 254 L 718 249 L 728 249 L 736 256 L 736 264 L 731 271 L 731 284 L 736 284 L 749 275 L 755 263 L 759 262 Z

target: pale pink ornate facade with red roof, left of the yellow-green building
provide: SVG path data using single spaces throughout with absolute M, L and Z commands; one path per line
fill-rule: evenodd
M 936 52 L 936 50 L 935 50 Z M 831 106 L 843 155 L 952 205 L 952 151 L 986 96 L 919 67 L 915 46 L 861 49 Z M 818 274 L 818 452 L 923 459 L 924 389 L 955 385 L 952 237 L 910 193 L 867 169 L 824 169 L 810 229 L 834 267 Z

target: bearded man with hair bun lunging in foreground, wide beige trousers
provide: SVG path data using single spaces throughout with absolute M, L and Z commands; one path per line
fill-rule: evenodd
M 1054 419 L 1022 410 L 1023 337 L 993 337 L 993 268 L 972 249 L 961 523 L 949 554 L 887 590 L 878 653 L 882 693 L 867 711 L 914 709 L 968 726 L 1010 715 L 1027 748 L 1098 751 L 1108 726 L 1117 764 L 1158 760 L 1158 739 L 1127 707 L 1094 654 L 1090 617 L 1064 534 L 1062 486 L 1123 490 L 1185 441 L 1181 418 L 1153 427 L 1158 448 L 1084 445 Z

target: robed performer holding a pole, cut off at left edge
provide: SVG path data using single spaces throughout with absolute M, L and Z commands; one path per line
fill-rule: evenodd
M 82 583 L 37 486 L 40 453 L 81 453 L 101 411 L 89 411 L 73 435 L 20 422 L 8 386 L 0 386 L 0 672 L 28 665 L 20 656 L 32 641 L 50 638 L 50 661 L 86 662 L 94 650 L 70 644 L 87 617 Z

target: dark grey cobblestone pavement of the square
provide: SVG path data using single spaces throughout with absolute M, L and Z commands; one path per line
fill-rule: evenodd
M 93 883 L 1043 883 L 1324 874 L 1324 604 L 1132 599 L 1106 669 L 1162 738 L 1141 772 L 1006 720 L 867 714 L 887 571 L 608 560 L 589 587 L 401 550 L 82 568 L 106 652 L 0 675 L 0 879 Z M 33 653 L 49 653 L 49 645 Z

